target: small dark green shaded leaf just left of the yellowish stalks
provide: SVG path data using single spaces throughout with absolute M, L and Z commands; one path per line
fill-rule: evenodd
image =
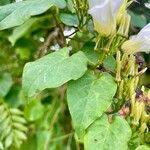
M 109 71 L 115 72 L 115 70 L 116 70 L 116 60 L 111 55 L 107 56 L 104 59 L 103 65 L 104 65 L 104 68 Z

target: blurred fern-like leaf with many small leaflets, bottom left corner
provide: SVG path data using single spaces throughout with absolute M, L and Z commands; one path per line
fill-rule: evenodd
M 12 145 L 19 148 L 27 139 L 28 128 L 23 112 L 19 109 L 9 108 L 7 103 L 0 99 L 0 141 L 4 149 Z

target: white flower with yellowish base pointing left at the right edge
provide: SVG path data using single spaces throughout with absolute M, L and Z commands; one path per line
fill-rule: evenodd
M 128 41 L 123 43 L 122 49 L 129 54 L 136 52 L 150 52 L 150 23 L 137 35 L 132 36 Z

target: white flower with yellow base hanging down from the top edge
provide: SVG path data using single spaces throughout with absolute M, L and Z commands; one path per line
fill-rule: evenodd
M 89 14 L 97 32 L 109 36 L 116 31 L 117 14 L 123 3 L 124 0 L 89 0 Z

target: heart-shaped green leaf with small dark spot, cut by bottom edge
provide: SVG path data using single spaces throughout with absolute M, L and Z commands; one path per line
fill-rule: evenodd
M 125 119 L 116 116 L 109 123 L 106 115 L 95 121 L 84 138 L 85 150 L 127 150 L 131 129 Z

